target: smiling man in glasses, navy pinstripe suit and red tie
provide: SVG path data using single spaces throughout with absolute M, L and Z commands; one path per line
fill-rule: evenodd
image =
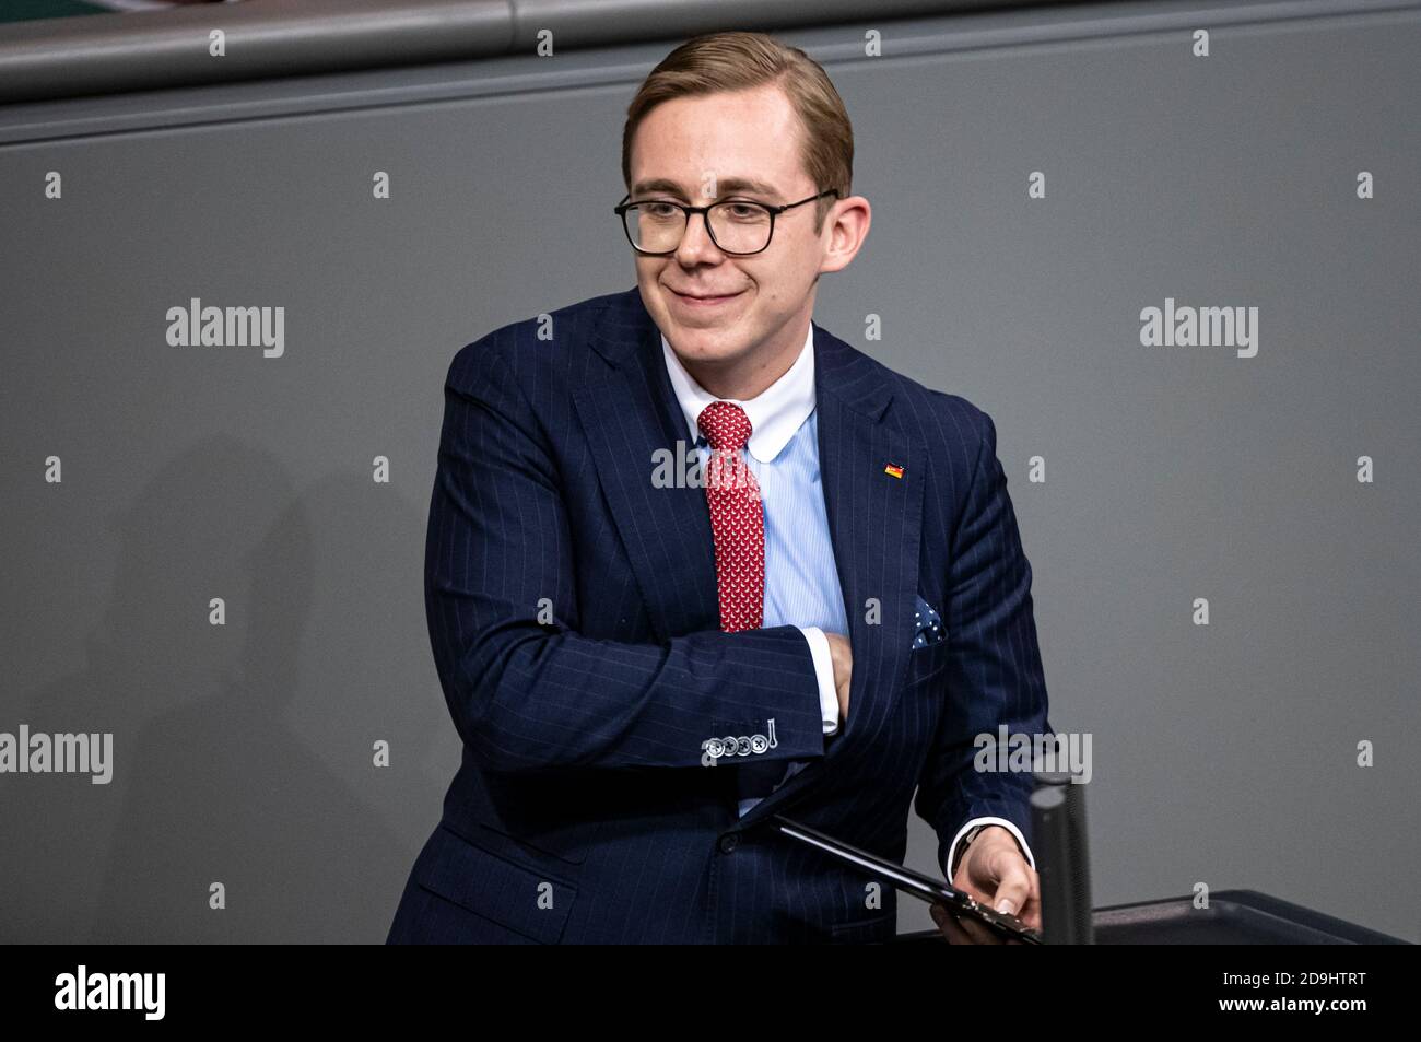
M 426 606 L 463 762 L 391 942 L 891 940 L 895 893 L 770 819 L 901 861 L 909 807 L 1040 925 L 1029 779 L 972 765 L 1049 731 L 1030 566 L 990 418 L 811 321 L 851 165 L 801 51 L 692 40 L 628 111 L 637 289 L 455 357 Z

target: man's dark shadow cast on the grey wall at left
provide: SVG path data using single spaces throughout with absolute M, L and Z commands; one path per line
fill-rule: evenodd
M 4 857 L 3 940 L 382 941 L 414 857 L 401 823 L 423 837 L 458 765 L 456 739 L 436 749 L 453 731 L 421 512 L 361 472 L 293 495 L 266 449 L 216 436 L 108 527 L 85 668 L 14 722 L 112 732 L 112 780 L 10 776 L 0 834 L 27 842 Z

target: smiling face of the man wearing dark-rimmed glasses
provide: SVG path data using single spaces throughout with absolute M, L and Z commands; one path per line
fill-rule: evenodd
M 776 87 L 665 101 L 637 128 L 631 198 L 692 206 L 799 202 L 821 190 L 800 162 L 803 132 Z M 843 266 L 826 266 L 834 219 L 830 212 L 816 235 L 814 208 L 804 203 L 776 216 L 769 247 L 750 256 L 722 253 L 701 215 L 691 217 L 675 253 L 635 254 L 642 301 L 682 360 L 730 371 L 757 358 L 770 364 L 796 335 L 803 343 L 806 326 L 796 320 L 813 311 L 816 277 Z

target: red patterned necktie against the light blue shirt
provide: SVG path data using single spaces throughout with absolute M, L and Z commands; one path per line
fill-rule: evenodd
M 764 620 L 764 505 L 760 485 L 745 462 L 750 418 L 735 402 L 715 401 L 701 411 L 696 426 L 710 442 L 706 503 L 715 536 L 720 628 L 759 630 Z

